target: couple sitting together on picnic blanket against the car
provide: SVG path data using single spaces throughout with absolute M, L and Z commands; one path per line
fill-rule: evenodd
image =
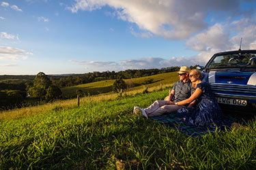
M 202 73 L 189 67 L 180 68 L 180 81 L 175 82 L 165 101 L 155 101 L 150 107 L 134 107 L 133 113 L 141 116 L 160 116 L 176 112 L 185 122 L 215 129 L 222 120 L 223 112 L 218 106 L 207 83 L 201 82 Z

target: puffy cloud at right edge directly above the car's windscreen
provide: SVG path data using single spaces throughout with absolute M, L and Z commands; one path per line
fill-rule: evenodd
M 232 22 L 214 24 L 209 29 L 190 37 L 186 45 L 199 51 L 195 60 L 206 63 L 216 52 L 238 50 L 242 37 L 242 50 L 256 49 L 256 14 Z

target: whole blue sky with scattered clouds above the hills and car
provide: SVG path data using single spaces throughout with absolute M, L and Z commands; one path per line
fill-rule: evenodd
M 205 65 L 256 49 L 255 0 L 0 1 L 0 75 Z

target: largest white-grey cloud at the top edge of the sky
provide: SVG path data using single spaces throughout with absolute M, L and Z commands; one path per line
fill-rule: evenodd
M 112 7 L 114 16 L 137 24 L 145 34 L 160 35 L 168 39 L 186 39 L 208 27 L 205 19 L 209 12 L 217 15 L 239 16 L 240 0 L 74 0 L 73 13 L 79 10 L 98 10 L 105 5 Z M 141 37 L 141 36 L 140 36 Z

